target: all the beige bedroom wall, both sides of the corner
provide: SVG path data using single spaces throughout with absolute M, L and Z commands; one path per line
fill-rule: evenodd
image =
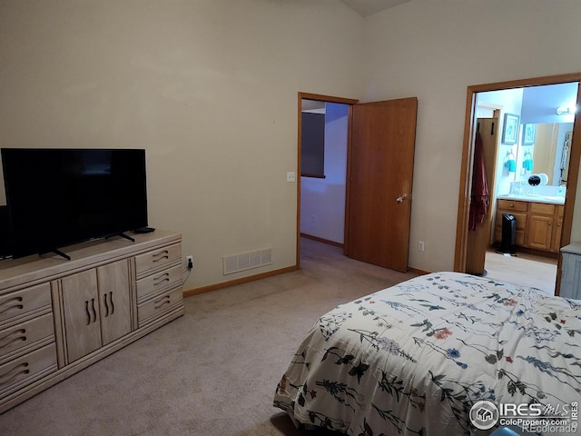
M 145 148 L 150 222 L 183 233 L 191 289 L 239 276 L 223 255 L 295 263 L 298 92 L 415 95 L 409 265 L 451 269 L 468 85 L 581 71 L 580 22 L 578 0 L 365 19 L 339 0 L 3 0 L 0 146 Z

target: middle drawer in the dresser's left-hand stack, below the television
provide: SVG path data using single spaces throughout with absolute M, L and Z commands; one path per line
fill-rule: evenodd
M 25 351 L 26 348 L 34 347 L 34 342 L 45 338 L 51 338 L 54 341 L 52 313 L 46 313 L 0 331 L 0 363 L 12 359 L 11 356 L 17 355 L 21 350 Z

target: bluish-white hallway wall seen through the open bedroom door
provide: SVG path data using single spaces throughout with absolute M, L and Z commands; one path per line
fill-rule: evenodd
M 349 106 L 325 104 L 325 178 L 300 179 L 300 232 L 343 243 Z

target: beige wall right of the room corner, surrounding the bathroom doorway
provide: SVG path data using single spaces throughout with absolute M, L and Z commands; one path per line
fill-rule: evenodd
M 581 71 L 581 2 L 412 0 L 365 22 L 363 100 L 419 98 L 409 265 L 451 269 L 468 85 Z

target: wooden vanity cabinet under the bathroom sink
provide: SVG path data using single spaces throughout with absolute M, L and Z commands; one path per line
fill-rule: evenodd
M 517 246 L 558 253 L 564 206 L 561 204 L 497 200 L 494 240 L 502 240 L 502 213 L 517 220 Z

